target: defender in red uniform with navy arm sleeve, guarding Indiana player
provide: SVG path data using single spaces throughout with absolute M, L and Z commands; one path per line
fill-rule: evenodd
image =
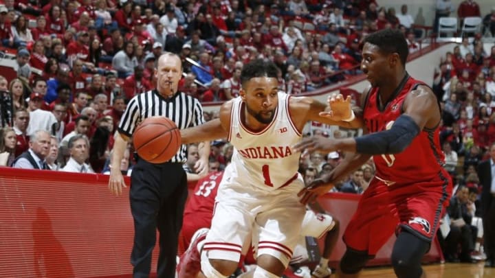
M 357 277 L 394 232 L 395 274 L 424 277 L 421 258 L 452 194 L 452 183 L 442 167 L 439 102 L 426 84 L 406 72 L 408 46 L 398 30 L 366 37 L 362 56 L 361 69 L 371 83 L 362 102 L 364 128 L 370 134 L 347 139 L 311 137 L 296 144 L 296 150 L 354 153 L 300 196 L 303 202 L 311 202 L 373 156 L 376 175 L 344 233 L 347 251 L 340 261 L 340 277 Z M 341 101 L 340 95 L 329 100 Z

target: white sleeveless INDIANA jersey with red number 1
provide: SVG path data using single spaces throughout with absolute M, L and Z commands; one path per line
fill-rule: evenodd
M 272 191 L 300 178 L 300 152 L 292 150 L 292 146 L 300 141 L 301 134 L 289 115 L 289 98 L 286 93 L 278 93 L 274 119 L 259 132 L 242 123 L 245 104 L 241 97 L 233 100 L 228 136 L 234 146 L 232 177 L 240 183 Z

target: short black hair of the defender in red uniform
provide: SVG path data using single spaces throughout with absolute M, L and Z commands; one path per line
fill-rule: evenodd
M 399 30 L 384 29 L 364 38 L 364 43 L 371 43 L 380 48 L 383 54 L 399 54 L 402 65 L 406 66 L 409 54 L 408 44 L 404 34 Z

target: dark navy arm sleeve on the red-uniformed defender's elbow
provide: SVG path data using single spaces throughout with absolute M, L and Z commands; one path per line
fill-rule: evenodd
M 419 126 L 408 115 L 401 115 L 389 130 L 355 138 L 360 154 L 397 154 L 405 150 L 419 134 Z

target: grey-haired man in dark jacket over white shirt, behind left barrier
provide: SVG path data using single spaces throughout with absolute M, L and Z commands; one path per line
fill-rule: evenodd
M 37 130 L 31 135 L 30 148 L 14 161 L 12 167 L 21 169 L 49 170 L 45 158 L 50 150 L 50 133 Z

